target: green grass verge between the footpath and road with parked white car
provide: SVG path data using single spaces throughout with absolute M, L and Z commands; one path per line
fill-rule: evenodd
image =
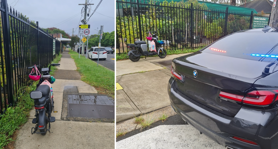
M 76 52 L 75 52 L 76 53 Z M 115 72 L 105 67 L 98 66 L 97 63 L 84 56 L 71 55 L 77 67 L 77 71 L 81 73 L 81 80 L 94 86 L 98 93 L 106 94 L 115 98 Z

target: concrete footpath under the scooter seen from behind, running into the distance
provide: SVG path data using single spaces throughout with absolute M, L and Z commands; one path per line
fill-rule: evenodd
M 68 54 L 68 49 L 63 52 L 61 65 L 55 72 L 56 81 L 52 84 L 54 95 L 54 110 L 52 113 L 56 118 L 51 123 L 50 132 L 46 135 L 31 134 L 32 119 L 35 110 L 30 112 L 28 122 L 19 130 L 15 149 L 35 149 L 35 148 L 61 148 L 61 149 L 79 149 L 79 148 L 114 148 L 115 147 L 115 123 L 104 122 L 80 122 L 61 120 L 63 105 L 63 92 L 65 86 L 77 86 L 79 93 L 97 93 L 97 90 L 85 82 L 81 81 L 80 74 L 76 71 L 74 60 Z

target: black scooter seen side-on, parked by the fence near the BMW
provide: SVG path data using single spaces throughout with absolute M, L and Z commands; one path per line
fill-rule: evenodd
M 127 44 L 127 48 L 129 48 L 130 50 L 127 53 L 127 55 L 129 56 L 129 59 L 131 61 L 133 62 L 139 61 L 140 56 L 142 55 L 147 57 L 147 56 L 152 56 L 157 54 L 161 59 L 167 56 L 166 50 L 164 48 L 161 48 L 161 45 L 158 43 L 158 37 L 155 33 L 152 34 L 151 41 L 154 41 L 156 44 L 156 52 L 149 51 L 145 41 L 135 41 L 134 44 L 127 44 L 127 39 L 126 38 L 124 39 L 124 42 Z M 149 34 L 149 32 L 147 34 Z

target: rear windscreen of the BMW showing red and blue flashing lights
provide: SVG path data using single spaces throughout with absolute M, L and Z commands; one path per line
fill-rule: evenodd
M 202 52 L 254 61 L 275 62 L 278 59 L 278 33 L 235 33 L 220 39 Z

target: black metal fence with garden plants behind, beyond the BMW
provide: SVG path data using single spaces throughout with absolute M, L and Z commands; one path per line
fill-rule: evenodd
M 145 40 L 148 31 L 157 31 L 166 49 L 197 48 L 228 34 L 252 29 L 253 16 L 270 15 L 209 9 L 197 1 L 167 2 L 145 0 L 116 1 L 116 50 L 128 52 L 123 42 Z M 269 22 L 268 22 L 269 23 Z

